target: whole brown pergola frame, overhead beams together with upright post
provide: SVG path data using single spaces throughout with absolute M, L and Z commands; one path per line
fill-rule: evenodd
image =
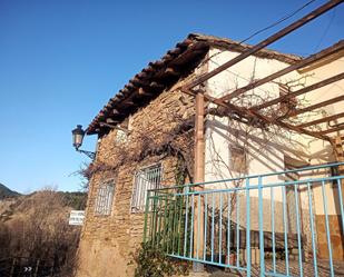
M 288 130 L 293 130 L 299 133 L 304 133 L 304 135 L 308 135 L 312 136 L 314 138 L 317 139 L 323 139 L 323 140 L 327 140 L 332 144 L 333 148 L 334 148 L 334 152 L 337 157 L 337 159 L 343 159 L 343 148 L 342 148 L 342 140 L 341 137 L 336 137 L 335 139 L 330 138 L 328 136 L 325 136 L 328 132 L 333 132 L 333 131 L 340 131 L 344 129 L 344 125 L 338 125 L 337 127 L 326 130 L 326 131 L 311 131 L 305 129 L 306 127 L 309 127 L 315 123 L 322 123 L 322 122 L 326 122 L 330 120 L 333 120 L 334 118 L 341 118 L 342 116 L 344 116 L 344 112 L 341 112 L 338 115 L 335 116 L 331 116 L 327 118 L 323 118 L 321 120 L 314 120 L 312 122 L 307 122 L 304 125 L 299 125 L 299 126 L 295 126 L 295 125 L 291 125 L 288 122 L 283 121 L 284 118 L 271 118 L 267 116 L 264 116 L 259 112 L 259 110 L 271 107 L 272 105 L 276 105 L 279 103 L 293 96 L 299 96 L 299 95 L 304 95 L 307 92 L 311 92 L 315 89 L 318 89 L 321 87 L 327 86 L 330 83 L 334 83 L 335 81 L 342 80 L 344 78 L 344 72 L 336 75 L 332 78 L 328 78 L 326 80 L 320 81 L 317 83 L 314 83 L 312 86 L 308 86 L 306 88 L 303 88 L 301 90 L 294 91 L 292 93 L 288 93 L 287 96 L 284 97 L 278 97 L 272 101 L 268 101 L 264 105 L 261 106 L 256 106 L 253 108 L 245 108 L 245 107 L 238 107 L 236 105 L 233 105 L 230 102 L 230 99 L 233 99 L 234 97 L 240 96 L 242 93 L 252 90 L 256 87 L 259 87 L 266 82 L 269 82 L 281 76 L 284 76 L 288 72 L 292 72 L 296 69 L 309 66 L 311 63 L 318 61 L 330 55 L 333 55 L 335 52 L 338 52 L 341 50 L 344 49 L 344 41 L 340 41 L 337 44 L 327 48 L 318 53 L 312 55 L 306 59 L 303 59 L 292 66 L 286 67 L 283 70 L 279 70 L 271 76 L 267 76 L 261 80 L 254 81 L 243 88 L 236 89 L 235 91 L 232 91 L 230 93 L 222 97 L 222 98 L 214 98 L 209 95 L 207 95 L 206 92 L 202 91 L 199 89 L 199 85 L 204 83 L 205 81 L 207 81 L 208 79 L 210 79 L 212 77 L 220 73 L 222 71 L 228 69 L 229 67 L 238 63 L 239 61 L 246 59 L 247 57 L 256 53 L 257 51 L 262 50 L 263 48 L 265 48 L 266 46 L 275 42 L 276 40 L 283 38 L 284 36 L 293 32 L 294 30 L 298 29 L 299 27 L 306 24 L 307 22 L 312 21 L 313 19 L 320 17 L 321 14 L 325 13 L 326 11 L 333 9 L 334 7 L 341 4 L 343 2 L 343 0 L 331 0 L 328 2 L 326 2 L 325 4 L 321 6 L 320 8 L 315 9 L 314 11 L 312 11 L 311 13 L 306 14 L 305 17 L 303 17 L 302 19 L 293 22 L 292 24 L 287 26 L 286 28 L 282 29 L 281 31 L 276 32 L 275 34 L 268 37 L 267 39 L 263 40 L 262 42 L 257 43 L 256 46 L 252 47 L 250 49 L 242 52 L 240 55 L 238 55 L 237 57 L 235 57 L 234 59 L 225 62 L 224 65 L 219 66 L 218 68 L 214 69 L 210 72 L 204 73 L 202 76 L 199 76 L 198 78 L 196 78 L 194 81 L 184 85 L 180 90 L 185 93 L 188 95 L 194 95 L 196 96 L 196 122 L 195 122 L 195 176 L 194 176 L 194 181 L 197 184 L 202 184 L 204 182 L 204 178 L 205 178 L 205 140 L 204 140 L 204 119 L 205 119 L 205 100 L 210 101 L 215 105 L 217 105 L 218 107 L 223 107 L 226 111 L 228 111 L 228 115 L 230 113 L 236 113 L 239 118 L 244 118 L 246 120 L 248 120 L 248 123 L 255 123 L 257 120 L 265 123 L 265 125 L 276 125 L 279 126 L 282 128 L 288 129 Z M 195 89 L 197 87 L 197 89 Z M 307 107 L 305 109 L 301 109 L 301 110 L 296 110 L 295 112 L 305 112 L 307 110 L 311 109 L 316 109 L 320 107 L 324 107 L 326 105 L 330 103 L 334 103 L 336 101 L 342 101 L 344 100 L 344 98 L 334 98 L 327 101 L 324 101 L 322 103 L 317 103 L 317 105 L 313 105 L 311 107 Z M 340 145 L 340 146 L 338 146 Z M 342 152 L 342 155 L 341 155 Z M 203 189 L 203 186 L 199 186 L 198 189 Z M 203 201 L 203 200 L 202 200 Z M 204 205 L 203 202 L 200 202 L 200 206 L 198 207 L 198 205 L 196 204 L 195 206 L 195 212 L 200 212 L 203 214 L 204 209 Z M 198 210 L 198 211 L 197 211 Z M 197 227 L 199 226 L 199 227 Z M 194 231 L 195 234 L 197 234 L 197 236 L 203 236 L 204 234 L 204 222 L 198 222 L 195 224 L 194 226 Z M 197 237 L 195 235 L 195 237 Z M 203 241 L 203 240 L 202 240 Z M 197 243 L 197 241 L 195 241 Z M 203 253 L 204 249 L 204 245 L 199 245 L 199 249 L 198 251 L 200 251 L 200 254 Z M 196 255 L 198 256 L 199 253 L 196 253 Z M 249 259 L 249 253 L 247 253 L 247 259 Z M 195 263 L 194 265 L 195 268 L 198 268 L 202 270 L 203 265 L 199 263 Z

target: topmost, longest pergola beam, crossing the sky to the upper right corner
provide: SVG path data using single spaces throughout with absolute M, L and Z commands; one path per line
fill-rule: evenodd
M 306 14 L 305 17 L 298 19 L 297 21 L 293 22 L 292 24 L 283 28 L 281 31 L 274 33 L 273 36 L 268 37 L 267 39 L 261 41 L 259 43 L 257 43 L 256 46 L 254 46 L 253 48 L 242 52 L 239 56 L 235 57 L 234 59 L 225 62 L 224 65 L 219 66 L 218 68 L 214 69 L 210 72 L 204 73 L 199 78 L 197 78 L 196 80 L 191 81 L 190 83 L 187 83 L 185 86 L 186 89 L 190 89 L 194 88 L 200 83 L 203 83 L 204 81 L 208 80 L 209 78 L 218 75 L 219 72 L 226 70 L 227 68 L 236 65 L 237 62 L 246 59 L 247 57 L 249 57 L 250 55 L 259 51 L 261 49 L 272 44 L 273 42 L 275 42 L 276 40 L 285 37 L 286 34 L 291 33 L 292 31 L 298 29 L 299 27 L 308 23 L 309 21 L 316 19 L 317 17 L 320 17 L 321 14 L 325 13 L 326 11 L 333 9 L 334 7 L 338 6 L 340 3 L 342 3 L 343 0 L 331 0 L 328 2 L 326 2 L 325 4 L 321 6 L 320 8 L 313 10 L 312 12 L 309 12 L 308 14 Z

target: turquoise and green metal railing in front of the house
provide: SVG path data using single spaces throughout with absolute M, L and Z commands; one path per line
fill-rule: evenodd
M 144 241 L 161 247 L 171 257 L 233 268 L 246 276 L 250 276 L 253 265 L 261 276 L 303 276 L 307 253 L 314 276 L 321 276 L 317 205 L 325 217 L 326 263 L 334 276 L 328 201 L 334 199 L 338 207 L 343 238 L 344 176 L 330 172 L 343 165 L 151 189 L 147 194 Z M 301 179 L 291 179 L 291 174 Z M 336 191 L 334 198 L 326 195 L 330 188 Z M 315 202 L 315 189 L 321 191 L 321 202 Z M 305 225 L 309 234 L 303 231 Z M 254 256 L 259 258 L 254 260 Z M 294 261 L 297 273 L 292 270 Z

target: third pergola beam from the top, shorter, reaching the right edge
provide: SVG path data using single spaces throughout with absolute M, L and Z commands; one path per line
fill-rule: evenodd
M 340 75 L 336 75 L 334 77 L 331 77 L 328 79 L 325 79 L 325 80 L 322 80 L 320 82 L 316 82 L 316 83 L 313 83 L 306 88 L 303 88 L 303 89 L 299 89 L 299 90 L 296 90 L 296 91 L 293 91 L 291 93 L 287 93 L 285 96 L 281 96 L 278 98 L 275 98 L 271 101 L 267 101 L 267 102 L 264 102 L 264 103 L 261 103 L 261 105 L 257 105 L 257 106 L 254 106 L 252 107 L 252 109 L 255 109 L 255 110 L 261 110 L 261 109 L 264 109 L 264 108 L 267 108 L 269 106 L 273 106 L 273 105 L 276 105 L 276 103 L 279 103 L 281 101 L 285 101 L 289 98 L 293 98 L 293 97 L 297 97 L 297 96 L 301 96 L 301 95 L 304 95 L 304 93 L 307 93 L 309 91 L 313 91 L 313 90 L 316 90 L 316 89 L 320 89 L 322 87 L 325 87 L 325 86 L 328 86 L 333 82 L 336 82 L 336 81 L 340 81 L 344 79 L 344 72 L 340 73 Z

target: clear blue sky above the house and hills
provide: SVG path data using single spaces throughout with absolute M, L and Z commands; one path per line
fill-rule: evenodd
M 87 158 L 71 147 L 71 129 L 86 127 L 149 61 L 189 32 L 242 40 L 305 2 L 0 0 L 0 182 L 20 192 L 80 189 L 72 172 Z M 343 30 L 344 4 L 271 48 L 308 55 Z M 95 141 L 87 137 L 83 148 Z

